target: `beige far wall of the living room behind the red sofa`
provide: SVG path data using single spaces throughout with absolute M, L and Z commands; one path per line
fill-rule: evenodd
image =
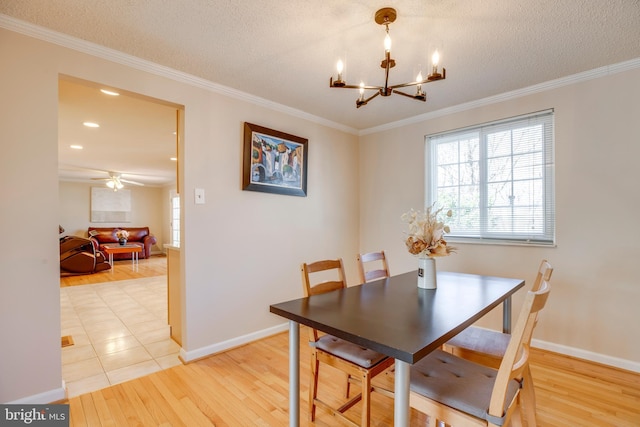
M 152 253 L 162 251 L 165 238 L 165 218 L 169 206 L 164 204 L 160 187 L 131 187 L 131 221 L 128 223 L 91 222 L 91 187 L 96 184 L 84 182 L 60 181 L 58 201 L 60 206 L 60 225 L 64 235 L 87 237 L 88 227 L 149 227 L 149 232 L 158 243 L 151 247 Z

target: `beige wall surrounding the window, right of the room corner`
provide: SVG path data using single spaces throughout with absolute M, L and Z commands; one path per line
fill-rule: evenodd
M 384 248 L 392 273 L 417 268 L 400 215 L 424 204 L 425 135 L 554 108 L 557 247 L 457 245 L 438 268 L 530 285 L 547 258 L 555 270 L 536 344 L 640 371 L 639 81 L 636 68 L 361 137 L 361 249 Z M 498 328 L 500 313 L 481 324 Z

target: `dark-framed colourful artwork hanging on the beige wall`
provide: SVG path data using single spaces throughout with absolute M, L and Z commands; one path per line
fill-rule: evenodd
M 242 189 L 306 197 L 308 143 L 245 122 Z

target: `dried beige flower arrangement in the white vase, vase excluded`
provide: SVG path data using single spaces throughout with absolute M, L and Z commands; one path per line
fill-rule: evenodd
M 409 224 L 409 231 L 405 239 L 407 250 L 418 257 L 447 256 L 456 251 L 456 248 L 447 245 L 444 240 L 445 233 L 449 233 L 448 225 L 438 219 L 443 208 L 433 211 L 433 206 L 424 212 L 411 209 L 402 215 L 402 221 Z M 446 213 L 451 218 L 453 212 L 449 209 Z

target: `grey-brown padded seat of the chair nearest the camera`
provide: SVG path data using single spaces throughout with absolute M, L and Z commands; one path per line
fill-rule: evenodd
M 502 425 L 504 418 L 491 416 L 487 412 L 497 373 L 495 369 L 435 350 L 411 367 L 411 391 Z M 519 388 L 518 381 L 509 382 L 505 410 Z

